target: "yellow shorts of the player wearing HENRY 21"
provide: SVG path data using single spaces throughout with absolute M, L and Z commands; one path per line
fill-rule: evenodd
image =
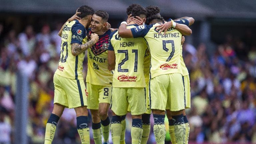
M 110 108 L 116 115 L 127 114 L 128 106 L 132 115 L 146 112 L 145 87 L 113 87 Z

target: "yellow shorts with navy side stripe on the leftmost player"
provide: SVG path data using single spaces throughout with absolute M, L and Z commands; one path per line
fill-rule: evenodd
M 83 79 L 69 79 L 58 74 L 53 76 L 54 103 L 68 108 L 87 106 L 86 88 Z

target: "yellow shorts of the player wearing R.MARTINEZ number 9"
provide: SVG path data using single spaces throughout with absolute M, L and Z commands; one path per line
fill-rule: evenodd
M 184 85 L 180 73 L 162 74 L 150 79 L 149 101 L 151 109 L 171 111 L 185 109 Z

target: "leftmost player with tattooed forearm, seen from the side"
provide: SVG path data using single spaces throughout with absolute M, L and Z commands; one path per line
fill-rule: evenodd
M 65 107 L 75 109 L 77 130 L 82 144 L 90 143 L 82 63 L 85 51 L 98 41 L 98 35 L 91 35 L 91 40 L 87 42 L 86 29 L 90 25 L 94 10 L 83 5 L 77 12 L 81 19 L 66 22 L 61 34 L 60 61 L 53 77 L 54 107 L 46 124 L 45 144 L 52 143 L 58 120 Z

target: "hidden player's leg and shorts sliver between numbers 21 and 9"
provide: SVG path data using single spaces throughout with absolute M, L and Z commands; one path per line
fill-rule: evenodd
M 141 144 L 146 144 L 148 141 L 149 133 L 150 133 L 150 104 L 149 104 L 149 82 L 146 82 L 146 113 L 142 114 L 142 138 L 141 138 Z

